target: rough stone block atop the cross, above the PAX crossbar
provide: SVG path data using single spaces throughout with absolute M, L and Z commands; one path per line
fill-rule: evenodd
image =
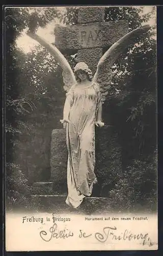
M 91 23 L 104 21 L 104 7 L 80 7 L 78 10 L 78 23 Z

